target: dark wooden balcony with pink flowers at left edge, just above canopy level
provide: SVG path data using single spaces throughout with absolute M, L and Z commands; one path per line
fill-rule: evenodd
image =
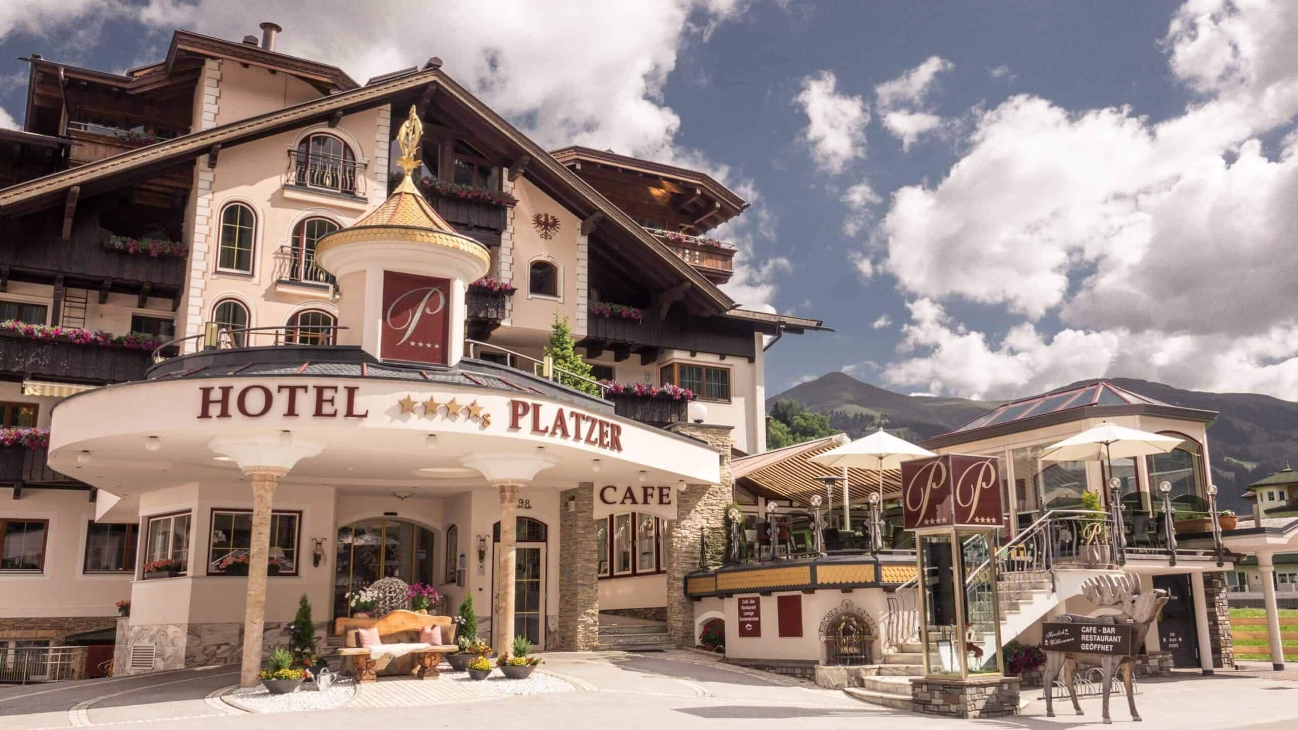
M 0 332 L 0 373 L 5 375 L 106 384 L 144 380 L 149 364 L 148 350 Z

